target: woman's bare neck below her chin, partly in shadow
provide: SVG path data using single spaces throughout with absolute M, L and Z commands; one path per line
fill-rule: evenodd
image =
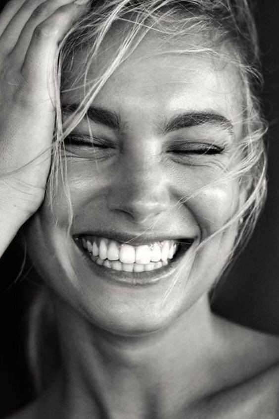
M 60 300 L 55 307 L 63 359 L 60 418 L 174 417 L 212 386 L 216 344 L 206 297 L 170 326 L 139 337 L 97 328 Z

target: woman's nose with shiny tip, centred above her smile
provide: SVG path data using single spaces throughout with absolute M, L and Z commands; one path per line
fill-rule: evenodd
M 127 160 L 119 164 L 108 196 L 108 207 L 135 223 L 154 221 L 170 208 L 166 176 L 160 164 L 152 160 Z

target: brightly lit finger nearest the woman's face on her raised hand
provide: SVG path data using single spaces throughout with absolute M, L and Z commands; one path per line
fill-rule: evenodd
M 36 27 L 28 46 L 21 74 L 31 89 L 48 86 L 51 80 L 57 45 L 78 16 L 85 11 L 84 6 L 74 3 L 59 7 L 51 16 Z M 35 92 L 34 92 L 35 93 Z

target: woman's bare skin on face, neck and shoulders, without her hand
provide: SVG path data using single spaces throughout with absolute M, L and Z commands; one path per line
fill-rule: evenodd
M 193 40 L 184 42 L 187 48 Z M 113 147 L 98 151 L 96 161 L 92 148 L 66 144 L 74 213 L 70 236 L 61 179 L 53 212 L 47 191 L 26 228 L 30 256 L 51 289 L 63 367 L 48 391 L 17 418 L 278 416 L 278 339 L 215 317 L 208 303 L 237 223 L 199 249 L 194 261 L 188 251 L 173 275 L 152 286 L 96 274 L 73 240 L 88 229 L 105 228 L 149 241 L 163 234 L 192 237 L 194 249 L 243 202 L 245 190 L 222 178 L 236 163 L 241 140 L 237 71 L 222 59 L 170 54 L 171 47 L 148 35 L 95 98 L 94 106 L 123 121 L 119 130 L 90 121 L 93 135 Z M 76 57 L 66 87 L 75 87 L 72 80 L 83 60 Z M 106 60 L 100 54 L 89 78 Z M 74 89 L 62 100 L 71 105 L 82 95 Z M 208 109 L 229 119 L 232 131 L 206 123 L 162 133 L 163 122 L 178 113 Z M 88 135 L 88 123 L 82 121 L 75 131 Z M 209 138 L 222 152 L 182 153 L 181 144 L 185 150 L 189 142 L 204 144 Z M 179 145 L 175 152 L 174 145 Z M 185 197 L 190 199 L 181 205 Z

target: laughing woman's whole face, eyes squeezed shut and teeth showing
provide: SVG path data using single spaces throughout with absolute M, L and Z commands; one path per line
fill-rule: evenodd
M 102 74 L 117 36 L 106 43 L 89 80 Z M 238 182 L 226 176 L 242 132 L 241 82 L 220 57 L 174 48 L 146 36 L 67 139 L 70 236 L 61 180 L 53 212 L 47 192 L 27 231 L 47 284 L 94 324 L 124 335 L 170 324 L 207 293 L 237 229 L 193 258 L 241 204 Z M 65 117 L 84 97 L 73 80 L 85 57 L 66 75 Z

